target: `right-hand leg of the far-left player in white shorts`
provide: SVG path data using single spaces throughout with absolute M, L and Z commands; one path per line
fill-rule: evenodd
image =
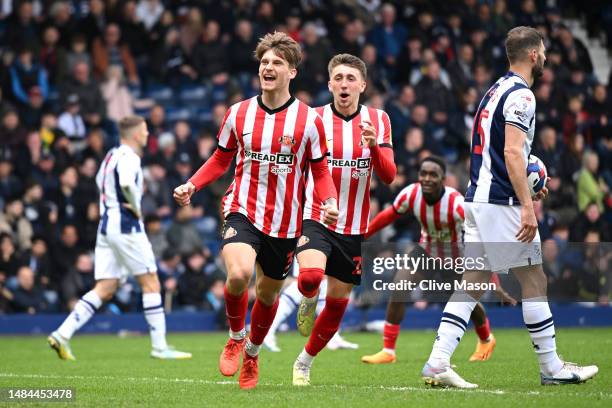
M 161 287 L 156 272 L 136 275 L 142 288 L 142 309 L 149 325 L 151 336 L 151 357 L 159 359 L 184 360 L 191 353 L 174 350 L 166 342 L 166 315 L 161 298 Z

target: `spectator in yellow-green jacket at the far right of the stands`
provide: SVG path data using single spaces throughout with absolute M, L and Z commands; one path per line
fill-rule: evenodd
M 577 193 L 578 209 L 584 210 L 586 206 L 595 202 L 599 211 L 604 211 L 604 197 L 608 193 L 608 186 L 598 174 L 599 157 L 597 153 L 587 150 L 582 159 L 582 169 L 578 174 Z

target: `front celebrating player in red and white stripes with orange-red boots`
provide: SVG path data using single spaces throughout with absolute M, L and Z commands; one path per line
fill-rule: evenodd
M 233 376 L 244 354 L 239 376 L 243 389 L 257 385 L 259 349 L 292 265 L 296 236 L 302 229 L 307 166 L 316 181 L 316 205 L 322 209 L 322 220 L 333 223 L 338 216 L 323 123 L 314 109 L 289 93 L 289 82 L 302 58 L 299 45 L 284 33 L 267 34 L 259 41 L 255 56 L 261 95 L 230 107 L 219 130 L 217 150 L 189 181 L 174 190 L 179 205 L 188 205 L 193 193 L 220 177 L 237 157 L 234 181 L 222 202 L 221 256 L 227 270 L 230 338 L 219 369 Z M 246 339 L 247 286 L 254 269 L 257 299 Z

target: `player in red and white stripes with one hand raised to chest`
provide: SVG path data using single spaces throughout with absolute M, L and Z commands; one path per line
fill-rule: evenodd
M 361 282 L 361 242 L 370 213 L 372 169 L 385 183 L 395 178 L 389 117 L 359 104 L 366 87 L 366 66 L 359 58 L 339 54 L 328 65 L 333 102 L 317 108 L 323 118 L 328 160 L 338 191 L 338 220 L 325 225 L 325 209 L 314 169 L 308 174 L 304 226 L 296 249 L 300 267 L 298 330 L 310 335 L 293 365 L 293 384 L 309 385 L 313 359 L 338 331 L 353 285 Z M 314 318 L 319 285 L 327 275 L 325 307 Z

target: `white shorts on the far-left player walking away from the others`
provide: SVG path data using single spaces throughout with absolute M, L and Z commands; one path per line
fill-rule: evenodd
M 103 235 L 96 239 L 94 274 L 96 280 L 119 279 L 128 275 L 156 272 L 153 247 L 144 232 Z

